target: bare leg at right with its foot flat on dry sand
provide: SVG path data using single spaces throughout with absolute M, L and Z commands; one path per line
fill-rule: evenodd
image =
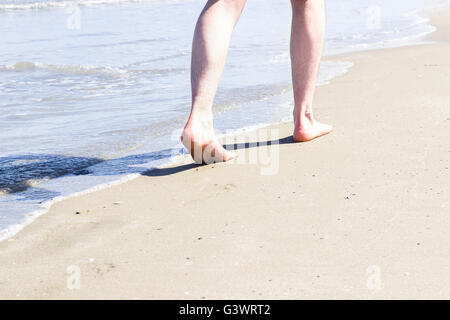
M 294 140 L 309 141 L 331 132 L 314 120 L 312 104 L 325 37 L 324 0 L 291 0 L 291 63 L 294 87 Z

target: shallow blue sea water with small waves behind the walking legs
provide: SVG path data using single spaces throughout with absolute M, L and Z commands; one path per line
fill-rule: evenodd
M 183 153 L 204 2 L 0 0 L 0 239 L 52 199 Z M 433 27 L 420 9 L 438 2 L 327 0 L 325 55 L 421 41 Z M 215 100 L 219 132 L 291 115 L 290 9 L 247 1 Z M 351 65 L 322 63 L 318 84 Z

